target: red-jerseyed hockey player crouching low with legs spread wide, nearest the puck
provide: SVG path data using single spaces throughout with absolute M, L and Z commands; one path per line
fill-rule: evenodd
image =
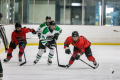
M 97 62 L 92 56 L 90 48 L 91 43 L 84 36 L 79 36 L 79 33 L 77 31 L 73 31 L 72 36 L 69 36 L 64 42 L 64 49 L 66 54 L 71 54 L 69 48 L 70 44 L 74 46 L 74 52 L 71 56 L 71 59 L 69 60 L 69 64 L 66 65 L 67 68 L 69 68 L 74 63 L 74 61 L 78 60 L 84 53 L 87 59 L 89 61 L 92 61 L 94 66 L 97 66 Z

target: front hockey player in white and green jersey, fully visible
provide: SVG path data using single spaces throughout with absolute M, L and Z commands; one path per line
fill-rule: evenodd
M 44 28 L 40 38 L 41 42 L 39 44 L 39 51 L 37 53 L 34 64 L 36 64 L 41 59 L 45 46 L 47 46 L 50 49 L 47 60 L 48 65 L 52 64 L 52 58 L 55 52 L 55 41 L 58 39 L 58 36 L 61 34 L 61 32 L 62 29 L 59 26 L 57 26 L 54 21 L 51 21 L 49 23 L 49 27 Z

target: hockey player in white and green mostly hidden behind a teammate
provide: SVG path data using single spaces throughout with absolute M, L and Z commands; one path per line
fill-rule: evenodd
M 50 16 L 46 16 L 46 22 L 44 22 L 43 24 L 41 24 L 38 29 L 37 29 L 37 34 L 38 34 L 38 37 L 39 39 L 41 38 L 41 34 L 42 34 L 42 30 L 46 27 L 46 26 L 49 26 L 49 22 L 51 21 L 51 17 Z M 39 41 L 39 44 L 41 41 Z M 46 47 L 45 47 L 45 50 L 44 52 L 46 52 Z

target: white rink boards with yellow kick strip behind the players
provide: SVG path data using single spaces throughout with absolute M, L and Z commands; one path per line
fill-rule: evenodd
M 39 25 L 23 25 L 28 28 L 34 28 L 37 30 Z M 57 43 L 63 44 L 68 36 L 71 36 L 72 31 L 78 31 L 80 35 L 85 36 L 92 44 L 120 44 L 120 33 L 114 32 L 113 29 L 120 30 L 119 26 L 81 26 L 81 25 L 59 25 L 62 28 L 62 34 L 60 35 Z M 14 25 L 6 25 L 6 34 L 8 41 L 11 41 L 11 33 L 14 30 Z M 32 33 L 27 34 L 28 44 L 38 44 L 37 35 Z

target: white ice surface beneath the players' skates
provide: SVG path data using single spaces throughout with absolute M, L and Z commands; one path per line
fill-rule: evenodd
M 72 46 L 70 48 L 73 50 Z M 53 57 L 53 64 L 48 66 L 48 49 L 38 64 L 33 65 L 38 46 L 26 47 L 27 63 L 23 66 L 19 66 L 18 48 L 13 51 L 13 57 L 8 63 L 3 63 L 7 54 L 1 53 L 3 80 L 120 80 L 120 46 L 92 45 L 91 49 L 93 56 L 100 64 L 97 69 L 92 69 L 79 60 L 75 61 L 69 69 L 58 67 L 56 53 Z M 71 55 L 64 53 L 63 45 L 58 46 L 58 54 L 60 64 L 68 64 Z M 85 55 L 81 59 L 93 65 Z

